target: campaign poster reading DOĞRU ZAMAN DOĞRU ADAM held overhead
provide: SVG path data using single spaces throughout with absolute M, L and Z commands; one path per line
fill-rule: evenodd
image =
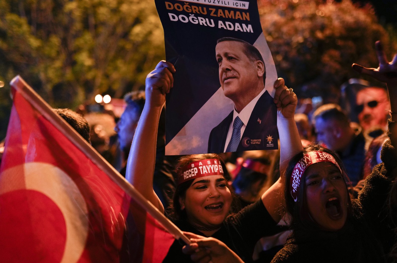
M 156 0 L 174 85 L 166 154 L 278 149 L 277 72 L 256 0 Z

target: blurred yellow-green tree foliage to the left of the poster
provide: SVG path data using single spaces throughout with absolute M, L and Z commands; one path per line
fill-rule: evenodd
M 0 0 L 0 80 L 20 74 L 54 107 L 122 97 L 163 58 L 153 1 Z

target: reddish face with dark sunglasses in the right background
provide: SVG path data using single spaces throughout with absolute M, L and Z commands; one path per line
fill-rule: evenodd
M 386 130 L 390 103 L 387 91 L 379 87 L 366 87 L 357 92 L 355 112 L 364 133 Z

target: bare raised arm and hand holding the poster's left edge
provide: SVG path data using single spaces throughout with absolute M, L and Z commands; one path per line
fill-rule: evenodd
M 170 62 L 160 61 L 146 77 L 146 102 L 127 160 L 126 179 L 161 212 L 160 199 L 153 191 L 153 173 L 156 163 L 156 137 L 160 112 L 166 102 L 166 93 L 173 86 Z

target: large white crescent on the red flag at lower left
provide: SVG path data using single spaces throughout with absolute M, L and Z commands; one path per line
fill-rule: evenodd
M 12 183 L 16 181 L 13 178 L 20 178 L 21 173 L 25 178 L 25 188 Z M 58 206 L 66 223 L 66 243 L 61 262 L 77 262 L 85 248 L 89 225 L 87 205 L 77 185 L 56 166 L 29 162 L 0 174 L 0 194 L 20 189 L 38 191 Z

